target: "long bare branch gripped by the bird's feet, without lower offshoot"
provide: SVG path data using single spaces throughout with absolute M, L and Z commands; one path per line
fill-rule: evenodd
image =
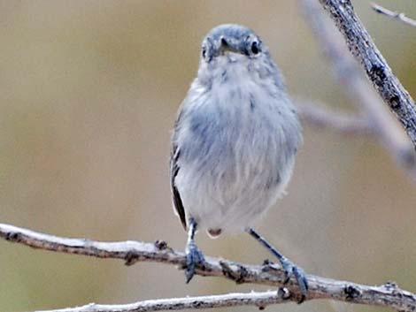
M 12 242 L 44 250 L 62 252 L 75 255 L 89 255 L 98 258 L 116 258 L 126 261 L 127 265 L 136 262 L 156 262 L 179 265 L 186 263 L 185 255 L 167 247 L 163 241 L 144 243 L 140 241 L 100 242 L 85 239 L 70 239 L 33 232 L 10 224 L 0 224 L 0 237 Z M 299 289 L 295 278 L 290 278 L 287 284 L 284 270 L 273 263 L 263 265 L 248 265 L 233 263 L 228 260 L 206 257 L 204 266 L 196 269 L 196 274 L 204 277 L 221 277 L 234 280 L 236 283 L 251 283 L 284 287 L 281 289 L 281 301 L 298 301 Z M 330 299 L 351 303 L 367 304 L 394 308 L 397 311 L 416 310 L 416 294 L 401 290 L 397 285 L 387 283 L 381 286 L 360 285 L 329 278 L 308 275 L 309 290 L 306 300 Z M 265 294 L 265 293 L 263 293 Z M 267 293 L 265 294 L 267 297 Z M 261 295 L 260 295 L 261 296 Z M 144 301 L 145 302 L 145 301 Z M 236 301 L 235 305 L 237 304 Z M 255 304 L 254 301 L 239 301 L 243 304 Z M 250 303 L 243 303 L 250 302 Z M 262 302 L 262 306 L 267 302 Z M 198 308 L 193 306 L 192 308 Z M 209 308 L 201 304 L 199 308 Z M 140 310 L 140 309 L 139 309 Z M 66 310 L 77 311 L 75 310 Z M 82 310 L 81 310 L 82 311 Z M 99 308 L 93 311 L 101 311 Z M 106 311 L 104 309 L 104 311 Z M 112 309 L 112 311 L 119 311 Z M 121 311 L 123 311 L 121 309 Z

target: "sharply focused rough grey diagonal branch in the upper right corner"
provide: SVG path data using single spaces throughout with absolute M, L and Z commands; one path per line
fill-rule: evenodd
M 343 34 L 348 49 L 364 67 L 381 98 L 394 111 L 416 148 L 416 106 L 391 71 L 356 15 L 351 0 L 319 0 Z M 309 14 L 312 15 L 312 14 Z

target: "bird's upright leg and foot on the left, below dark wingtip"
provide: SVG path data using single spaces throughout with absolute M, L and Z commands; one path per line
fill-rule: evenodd
M 196 232 L 196 221 L 194 218 L 189 219 L 189 229 L 188 229 L 188 241 L 185 249 L 187 255 L 187 263 L 185 268 L 185 277 L 187 284 L 194 277 L 195 269 L 197 265 L 201 265 L 205 262 L 204 255 L 201 250 L 196 247 L 195 244 L 195 232 Z

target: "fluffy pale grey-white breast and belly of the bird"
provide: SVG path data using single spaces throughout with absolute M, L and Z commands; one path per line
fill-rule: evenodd
M 288 98 L 265 90 L 246 66 L 217 74 L 209 92 L 190 99 L 181 121 L 175 183 L 199 228 L 238 232 L 288 184 L 300 127 Z

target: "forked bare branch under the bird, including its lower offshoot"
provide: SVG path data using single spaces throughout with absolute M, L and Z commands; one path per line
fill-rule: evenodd
M 101 242 L 86 239 L 71 239 L 33 232 L 10 224 L 0 224 L 0 237 L 4 240 L 43 250 L 89 255 L 97 258 L 115 258 L 127 265 L 136 262 L 155 262 L 185 265 L 185 255 L 167 247 L 163 241 L 145 243 L 140 241 Z M 285 272 L 273 263 L 249 265 L 234 263 L 225 259 L 206 257 L 204 267 L 198 267 L 196 274 L 204 277 L 227 278 L 236 283 L 270 285 L 276 292 L 230 293 L 218 296 L 187 297 L 182 299 L 139 301 L 127 305 L 95 305 L 81 308 L 66 308 L 60 312 L 92 311 L 156 311 L 160 309 L 218 308 L 235 305 L 256 305 L 265 308 L 269 304 L 298 301 L 299 289 L 295 279 L 284 283 Z M 306 300 L 328 299 L 357 304 L 383 306 L 397 311 L 415 311 L 416 295 L 406 292 L 394 283 L 380 286 L 360 285 L 341 280 L 308 275 L 309 291 Z M 52 311 L 52 310 L 51 310 Z M 56 310 L 55 310 L 56 311 Z

